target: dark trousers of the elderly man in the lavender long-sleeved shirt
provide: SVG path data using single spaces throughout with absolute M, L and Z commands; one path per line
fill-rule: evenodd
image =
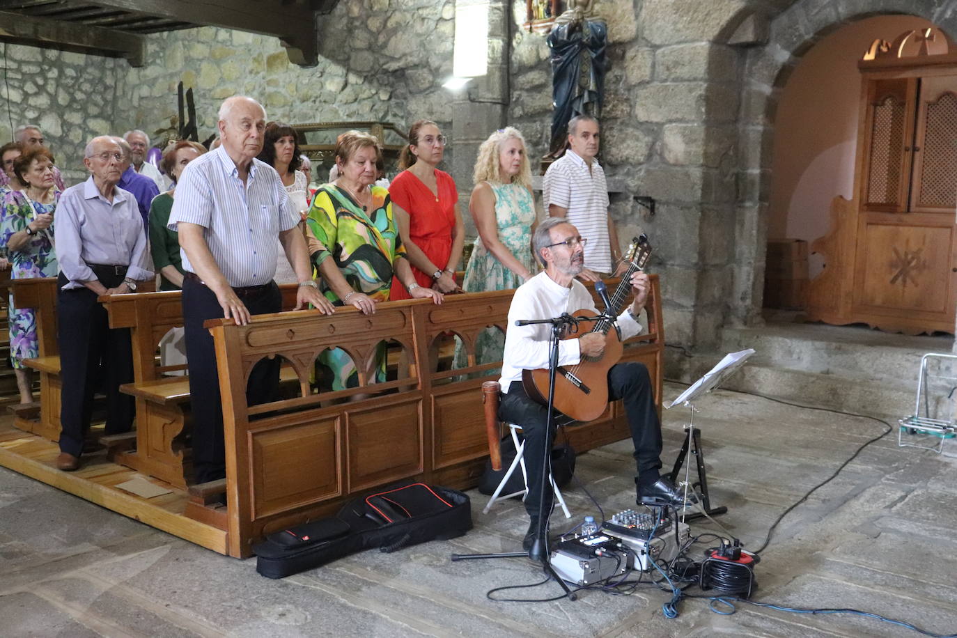
M 107 288 L 119 286 L 122 275 L 100 276 Z M 135 400 L 120 391 L 133 381 L 133 348 L 128 328 L 110 328 L 106 308 L 89 288 L 63 290 L 60 273 L 56 293 L 57 341 L 60 354 L 60 451 L 79 456 L 90 428 L 93 393 L 106 393 L 106 433 L 127 432 L 133 425 Z

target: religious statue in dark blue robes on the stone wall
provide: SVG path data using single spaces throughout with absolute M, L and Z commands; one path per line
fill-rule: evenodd
M 551 49 L 551 143 L 548 155 L 565 149 L 568 121 L 576 115 L 601 117 L 608 25 L 591 14 L 594 0 L 571 0 L 548 33 Z

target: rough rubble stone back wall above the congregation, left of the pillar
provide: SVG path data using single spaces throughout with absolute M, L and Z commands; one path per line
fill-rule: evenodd
M 9 45 L 13 127 L 39 123 L 74 182 L 85 176 L 82 148 L 91 137 L 129 128 L 153 136 L 169 126 L 180 80 L 193 89 L 200 139 L 215 132 L 219 103 L 235 94 L 259 99 L 282 121 L 390 121 L 405 129 L 427 117 L 451 129 L 451 99 L 440 85 L 452 73 L 454 6 L 341 2 L 317 17 L 320 63 L 309 69 L 291 64 L 275 37 L 215 28 L 146 36 L 137 69 L 122 59 Z M 9 139 L 2 120 L 0 136 Z

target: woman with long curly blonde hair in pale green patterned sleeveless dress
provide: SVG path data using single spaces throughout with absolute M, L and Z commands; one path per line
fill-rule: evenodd
M 531 168 L 518 129 L 507 126 L 481 144 L 474 181 L 469 212 L 479 237 L 465 268 L 462 290 L 518 288 L 537 271 L 531 250 L 537 219 Z M 476 364 L 501 361 L 504 345 L 500 330 L 485 330 L 476 341 Z M 455 367 L 463 367 L 458 350 Z

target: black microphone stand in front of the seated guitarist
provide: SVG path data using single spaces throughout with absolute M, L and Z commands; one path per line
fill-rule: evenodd
M 539 481 L 539 528 L 538 534 L 535 537 L 535 542 L 532 544 L 532 548 L 528 551 L 527 554 L 524 552 L 505 552 L 502 554 L 453 554 L 452 561 L 476 561 L 479 559 L 517 559 L 525 558 L 526 556 L 532 561 L 539 561 L 542 563 L 542 567 L 545 570 L 545 573 L 548 574 L 556 583 L 559 583 L 562 586 L 562 589 L 565 590 L 568 600 L 574 601 L 577 600 L 578 596 L 568 588 L 568 584 L 563 581 L 558 574 L 555 573 L 554 568 L 551 566 L 551 560 L 549 557 L 548 551 L 548 536 L 546 530 L 548 529 L 548 518 L 545 517 L 545 490 L 551 488 L 551 482 L 548 480 L 551 473 L 551 443 L 552 443 L 552 422 L 554 421 L 553 414 L 555 411 L 555 406 L 553 404 L 553 399 L 555 396 L 555 370 L 558 368 L 558 346 L 560 341 L 562 341 L 562 335 L 564 334 L 565 327 L 567 325 L 574 325 L 577 322 L 577 319 L 565 313 L 561 317 L 555 319 L 530 319 L 530 320 L 521 320 L 516 321 L 516 325 L 530 325 L 533 323 L 550 323 L 551 324 L 551 348 L 548 352 L 548 409 L 547 409 L 547 419 L 545 421 L 545 445 L 543 446 L 542 453 L 542 476 Z M 550 512 L 548 513 L 550 515 Z

